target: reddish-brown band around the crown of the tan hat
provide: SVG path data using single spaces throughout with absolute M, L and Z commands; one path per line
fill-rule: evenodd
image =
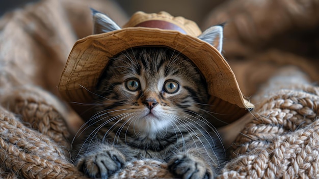
M 182 34 L 187 34 L 183 29 L 181 29 L 178 25 L 165 21 L 165 20 L 147 20 L 141 22 L 135 27 L 144 27 L 144 28 L 158 28 L 158 29 L 166 29 L 166 30 L 175 30 L 179 31 Z

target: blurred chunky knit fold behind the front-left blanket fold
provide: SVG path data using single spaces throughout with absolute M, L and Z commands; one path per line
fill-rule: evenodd
M 19 114 L 26 126 L 29 125 L 59 144 L 58 147 L 62 148 L 61 156 L 70 157 L 69 129 L 65 116 L 60 113 L 63 110 L 59 109 L 64 105 L 54 96 L 41 88 L 23 86 L 8 92 L 3 103 L 7 104 L 11 112 Z

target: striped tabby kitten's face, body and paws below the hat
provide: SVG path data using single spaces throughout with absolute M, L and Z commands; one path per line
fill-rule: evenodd
M 126 162 L 146 158 L 168 162 L 176 177 L 219 173 L 225 154 L 206 120 L 212 116 L 205 80 L 181 53 L 127 49 L 110 60 L 94 93 L 96 115 L 74 157 L 87 176 L 108 178 Z

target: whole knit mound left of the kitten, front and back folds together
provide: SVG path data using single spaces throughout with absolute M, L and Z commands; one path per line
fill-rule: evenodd
M 85 178 L 69 162 L 69 133 L 63 106 L 36 87 L 12 89 L 0 107 L 0 176 Z M 63 110 L 59 110 L 63 111 Z

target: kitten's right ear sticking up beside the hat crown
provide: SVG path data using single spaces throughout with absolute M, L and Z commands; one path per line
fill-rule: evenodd
M 223 49 L 223 24 L 214 25 L 206 29 L 201 35 L 198 36 L 199 39 L 208 42 L 214 46 L 220 53 Z

